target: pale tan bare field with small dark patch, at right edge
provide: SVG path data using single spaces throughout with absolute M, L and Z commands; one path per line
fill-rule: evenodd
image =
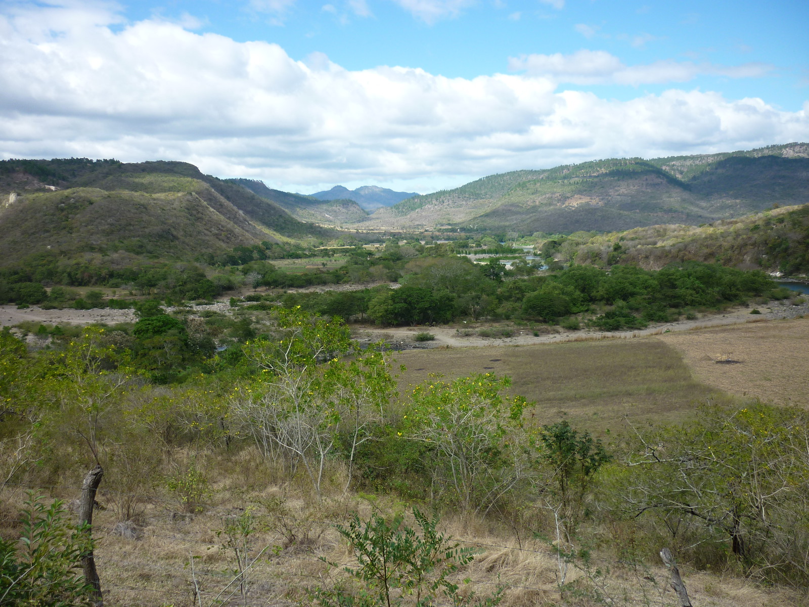
M 667 333 L 697 380 L 739 397 L 809 406 L 809 318 Z M 717 364 L 732 359 L 739 364 Z

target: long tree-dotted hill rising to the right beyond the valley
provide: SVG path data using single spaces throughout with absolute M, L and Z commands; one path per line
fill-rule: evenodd
M 607 159 L 488 176 L 377 210 L 363 227 L 548 233 L 697 225 L 809 202 L 809 145 Z

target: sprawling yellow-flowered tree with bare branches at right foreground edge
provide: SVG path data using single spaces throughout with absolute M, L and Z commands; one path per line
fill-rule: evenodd
M 637 433 L 618 507 L 657 515 L 672 540 L 725 546 L 769 579 L 809 579 L 809 431 L 803 411 L 704 406 L 686 425 Z

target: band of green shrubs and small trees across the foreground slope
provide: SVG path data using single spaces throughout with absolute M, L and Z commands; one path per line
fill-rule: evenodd
M 294 482 L 320 500 L 337 475 L 348 489 L 491 516 L 549 537 L 565 562 L 585 558 L 601 538 L 603 550 L 633 562 L 664 544 L 695 567 L 809 582 L 803 411 L 705 405 L 683 427 L 637 429 L 608 446 L 565 421 L 532 423 L 532 404 L 509 392 L 507 378 L 432 377 L 396 397 L 388 356 L 359 350 L 340 320 L 299 308 L 277 309 L 266 320 L 267 337 L 239 346 L 235 364 L 212 356 L 204 374 L 174 388 L 156 385 L 138 362 L 165 350 L 148 349 L 154 337 L 187 338 L 181 323 L 156 310 L 145 311 L 133 332 L 146 354 L 109 329 L 56 337 L 34 353 L 0 333 L 3 487 L 56 485 L 99 462 L 121 521 L 137 519 L 150 496 L 202 511 L 211 491 L 205 469 L 177 454 L 216 461 L 255 450 L 265 482 Z M 184 364 L 163 360 L 161 368 Z M 347 522 L 343 532 L 355 550 L 379 540 L 362 540 L 362 529 L 400 537 L 400 522 L 381 516 L 367 527 Z M 430 520 L 420 524 L 420 541 L 428 541 Z M 87 550 L 64 543 L 67 531 L 61 537 L 54 543 L 65 550 Z M 407 533 L 396 541 L 418 545 Z M 0 545 L 2 575 L 10 579 L 25 562 L 13 547 Z M 36 596 L 43 587 L 30 578 L 43 574 L 29 571 L 20 579 L 32 581 L 25 588 Z M 70 579 L 63 584 L 81 592 Z M 585 591 L 574 584 L 570 600 Z M 320 592 L 321 605 L 338 600 L 339 592 Z

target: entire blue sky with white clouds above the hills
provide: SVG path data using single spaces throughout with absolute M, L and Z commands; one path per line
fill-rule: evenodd
M 314 192 L 809 139 L 809 2 L 0 2 L 0 156 Z

